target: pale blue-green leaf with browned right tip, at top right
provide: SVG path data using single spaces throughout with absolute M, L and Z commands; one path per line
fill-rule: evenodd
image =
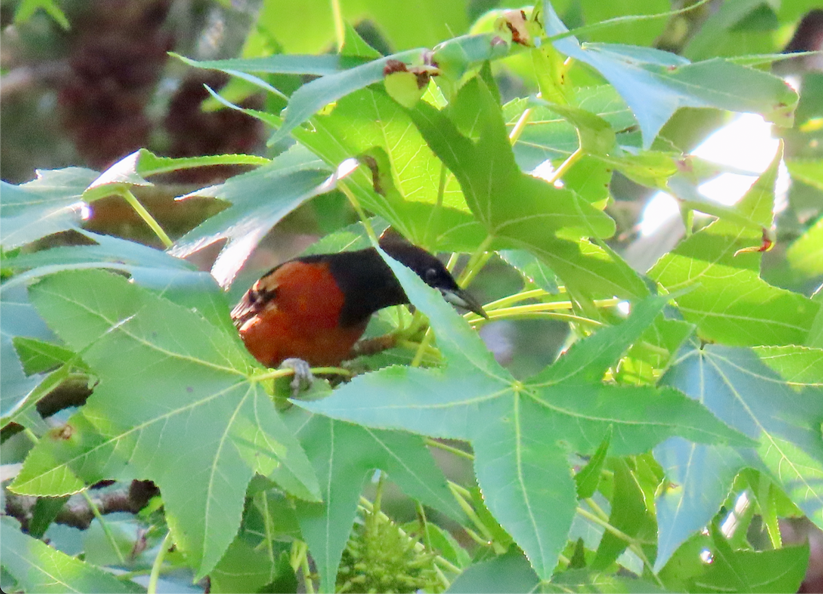
M 546 35 L 568 33 L 551 2 L 543 3 Z M 638 118 L 643 146 L 681 107 L 716 107 L 762 114 L 790 127 L 797 93 L 779 77 L 715 58 L 689 63 L 673 53 L 621 44 L 580 44 L 570 35 L 552 41 L 561 53 L 587 63 L 621 94 Z

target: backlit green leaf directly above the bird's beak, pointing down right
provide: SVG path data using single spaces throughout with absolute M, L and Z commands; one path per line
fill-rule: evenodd
M 611 218 L 576 193 L 518 168 L 500 106 L 479 78 L 463 86 L 448 114 L 425 102 L 409 114 L 460 182 L 495 247 L 528 248 L 586 295 L 648 295 L 644 282 L 616 253 L 585 239 L 611 235 Z

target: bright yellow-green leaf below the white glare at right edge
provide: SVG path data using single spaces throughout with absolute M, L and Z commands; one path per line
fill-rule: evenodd
M 695 286 L 675 300 L 700 336 L 729 345 L 803 344 L 820 305 L 803 295 L 760 279 L 760 253 L 738 253 L 759 246 L 771 226 L 774 180 L 780 160 L 737 205 L 751 226 L 716 220 L 667 253 L 649 276 L 673 292 Z

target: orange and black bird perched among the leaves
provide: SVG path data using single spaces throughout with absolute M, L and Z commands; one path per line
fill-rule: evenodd
M 483 318 L 486 312 L 462 290 L 435 256 L 389 228 L 379 246 L 415 271 L 444 299 Z M 246 348 L 269 368 L 337 367 L 365 332 L 371 315 L 408 304 L 400 282 L 378 251 L 322 253 L 294 258 L 260 277 L 231 318 Z

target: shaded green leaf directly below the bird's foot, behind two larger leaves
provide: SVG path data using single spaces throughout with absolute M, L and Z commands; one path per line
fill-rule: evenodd
M 317 564 L 323 590 L 334 589 L 357 502 L 374 469 L 387 472 L 389 480 L 421 503 L 458 521 L 463 519 L 445 477 L 419 436 L 368 429 L 300 409 L 290 411 L 286 422 L 303 443 L 323 485 L 323 503 L 296 504 L 300 531 Z

